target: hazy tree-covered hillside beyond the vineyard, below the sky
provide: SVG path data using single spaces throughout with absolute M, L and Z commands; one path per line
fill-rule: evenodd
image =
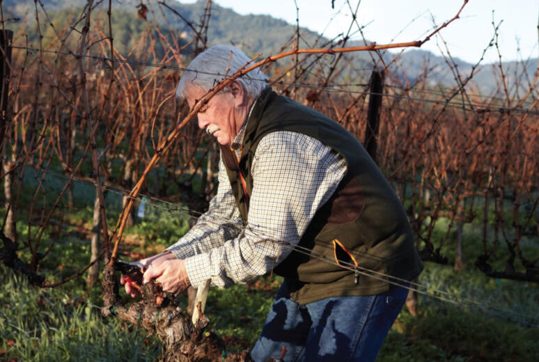
M 84 6 L 86 1 L 84 0 L 42 0 L 41 1 L 47 10 L 47 13 L 51 15 L 56 21 L 62 21 L 68 17 L 68 14 L 72 12 L 74 8 L 80 8 Z M 140 0 L 123 0 L 121 3 L 113 1 L 114 10 L 114 38 L 115 47 L 118 49 L 130 49 L 134 45 L 134 40 L 141 37 L 141 33 L 146 31 L 146 25 L 143 19 L 136 17 L 136 6 L 141 3 Z M 148 2 L 146 2 L 148 3 Z M 162 27 L 162 33 L 168 32 L 168 22 L 172 29 L 178 31 L 181 34 L 184 31 L 192 33 L 192 30 L 180 19 L 177 15 L 173 14 L 170 10 L 164 9 L 166 14 L 166 22 L 162 17 L 162 13 L 159 10 L 157 1 L 149 1 L 150 10 L 153 10 L 153 15 L 157 18 L 157 22 Z M 196 3 L 184 4 L 178 1 L 169 1 L 169 6 L 173 7 L 178 13 L 180 13 L 186 19 L 198 23 L 203 15 L 205 0 L 199 0 Z M 27 24 L 31 24 L 34 15 L 34 2 L 32 0 L 5 0 L 2 2 L 3 10 L 6 13 L 6 17 L 18 17 L 26 19 Z M 102 10 L 107 10 L 108 1 L 104 1 L 100 5 Z M 40 8 L 38 3 L 38 8 Z M 101 14 L 104 16 L 105 11 Z M 148 16 L 153 16 L 148 13 Z M 25 17 L 26 15 L 26 17 Z M 20 23 L 20 22 L 19 22 Z M 47 32 L 47 25 L 42 22 L 42 33 Z M 458 26 L 458 25 L 455 25 Z M 28 31 L 30 40 L 36 40 L 37 34 L 35 31 L 31 31 L 31 27 Z M 308 29 L 302 29 L 302 44 L 301 47 L 313 47 L 315 40 L 318 38 L 318 34 L 309 31 Z M 231 44 L 241 49 L 251 56 L 255 54 L 274 54 L 278 52 L 283 45 L 286 44 L 290 38 L 295 34 L 295 26 L 284 22 L 281 19 L 275 19 L 268 15 L 239 15 L 229 8 L 222 8 L 217 4 L 212 5 L 210 26 L 208 28 L 208 45 L 216 44 Z M 318 46 L 321 43 L 327 41 L 326 39 L 320 39 Z M 349 45 L 357 45 L 350 43 Z M 162 49 L 157 49 L 162 51 Z M 400 54 L 399 52 L 386 52 L 384 53 L 384 61 L 391 63 L 398 54 L 397 61 L 393 62 L 393 68 L 391 69 L 396 74 L 401 74 L 401 81 L 414 81 L 417 77 L 421 77 L 426 66 L 430 69 L 429 85 L 430 86 L 455 86 L 454 76 L 451 70 L 448 68 L 446 60 L 442 56 L 437 56 L 431 52 L 423 51 L 421 49 L 407 49 Z M 372 60 L 367 53 L 355 53 L 347 54 L 346 58 L 350 59 L 350 67 L 346 72 L 357 76 L 358 70 L 365 70 L 367 68 L 373 68 Z M 375 57 L 376 58 L 376 57 Z M 331 61 L 331 59 L 329 59 Z M 471 72 L 472 64 L 455 59 L 455 63 L 458 65 L 461 77 L 466 77 Z M 525 64 L 527 74 L 535 74 L 537 68 L 537 59 L 531 59 Z M 515 68 L 518 67 L 518 68 Z M 511 79 L 515 77 L 515 69 L 522 72 L 522 64 L 515 62 L 503 63 L 503 68 L 506 70 L 506 74 Z M 365 72 L 366 74 L 368 72 Z M 366 77 L 366 75 L 362 76 Z M 353 78 L 353 77 L 352 77 Z M 513 80 L 513 79 L 511 79 Z M 474 76 L 474 84 L 476 88 L 482 93 L 492 93 L 499 89 L 499 80 L 492 76 L 492 65 L 482 64 L 476 70 Z M 526 84 L 526 81 L 524 81 Z

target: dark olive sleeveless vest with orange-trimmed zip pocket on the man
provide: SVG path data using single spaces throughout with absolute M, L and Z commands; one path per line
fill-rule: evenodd
M 266 134 L 276 131 L 299 132 L 318 139 L 343 155 L 347 163 L 338 189 L 315 213 L 299 241 L 310 255 L 294 250 L 274 269 L 286 278 L 292 298 L 306 304 L 327 297 L 380 294 L 389 289 L 387 275 L 407 281 L 416 278 L 423 263 L 403 205 L 361 143 L 334 120 L 270 88 L 263 91 L 251 111 L 240 161 L 230 149 L 221 147 L 244 224 L 249 221 L 253 189 L 250 170 L 256 147 Z M 352 254 L 359 269 L 372 276 L 354 275 L 352 270 L 336 265 L 335 253 L 338 260 L 350 265 Z

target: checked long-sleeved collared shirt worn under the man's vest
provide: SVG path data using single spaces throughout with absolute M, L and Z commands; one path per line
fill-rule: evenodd
M 234 146 L 242 144 L 246 124 L 233 142 L 238 157 L 240 150 Z M 299 242 L 345 172 L 345 159 L 316 139 L 295 132 L 267 134 L 251 166 L 254 182 L 247 226 L 221 161 L 219 189 L 208 212 L 168 250 L 185 259 L 194 287 L 210 278 L 220 288 L 246 283 L 288 256 L 292 251 L 288 244 Z

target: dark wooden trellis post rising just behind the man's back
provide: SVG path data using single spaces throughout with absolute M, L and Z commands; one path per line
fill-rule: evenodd
M 384 73 L 373 70 L 369 81 L 369 98 L 367 110 L 367 127 L 365 129 L 364 146 L 376 162 L 376 138 L 378 125 L 380 125 L 380 109 L 382 106 L 382 92 L 384 91 Z

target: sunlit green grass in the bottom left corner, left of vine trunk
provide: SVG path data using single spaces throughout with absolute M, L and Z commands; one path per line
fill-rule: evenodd
M 0 265 L 0 361 L 153 361 L 146 332 L 100 317 L 90 301 L 38 289 Z

